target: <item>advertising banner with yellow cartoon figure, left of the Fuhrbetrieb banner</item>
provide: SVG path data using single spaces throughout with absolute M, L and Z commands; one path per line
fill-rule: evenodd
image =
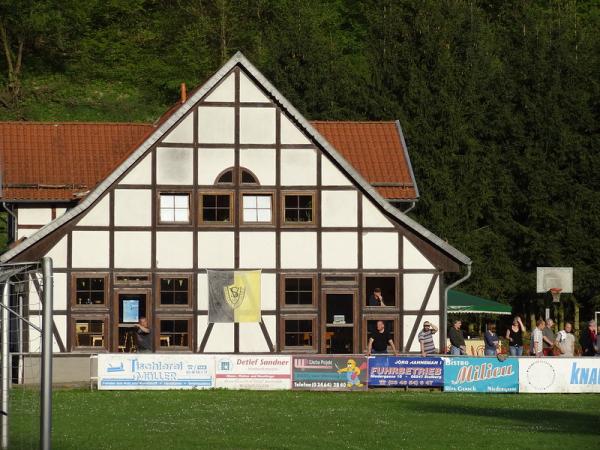
M 294 389 L 356 391 L 367 389 L 364 356 L 294 356 Z

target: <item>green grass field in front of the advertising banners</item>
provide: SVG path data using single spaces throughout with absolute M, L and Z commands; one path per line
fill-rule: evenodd
M 38 429 L 12 391 L 11 446 Z M 57 390 L 55 449 L 597 448 L 600 396 Z

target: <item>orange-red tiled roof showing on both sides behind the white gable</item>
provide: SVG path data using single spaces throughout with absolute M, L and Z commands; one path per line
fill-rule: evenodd
M 399 124 L 312 124 L 383 197 L 417 199 Z M 0 199 L 79 200 L 154 129 L 133 123 L 0 122 Z

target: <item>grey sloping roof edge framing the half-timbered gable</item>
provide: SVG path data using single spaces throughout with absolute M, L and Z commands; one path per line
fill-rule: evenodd
M 27 248 L 39 242 L 52 231 L 58 229 L 62 225 L 74 219 L 79 214 L 84 212 L 93 203 L 115 183 L 139 158 L 141 158 L 147 150 L 149 150 L 167 131 L 178 123 L 196 103 L 198 103 L 225 75 L 227 75 L 235 66 L 242 67 L 254 80 L 268 92 L 275 102 L 279 104 L 281 109 L 288 116 L 296 121 L 296 123 L 304 129 L 314 142 L 331 157 L 335 163 L 361 188 L 361 190 L 370 197 L 382 210 L 393 216 L 399 223 L 406 226 L 412 232 L 419 235 L 421 238 L 432 243 L 442 251 L 446 252 L 453 259 L 463 264 L 471 264 L 471 259 L 449 245 L 447 242 L 440 239 L 438 236 L 427 230 L 425 227 L 393 207 L 386 201 L 377 190 L 371 186 L 357 171 L 346 161 L 340 153 L 308 122 L 294 106 L 288 102 L 285 97 L 267 80 L 264 75 L 254 65 L 246 59 L 241 53 L 237 52 L 227 63 L 225 63 L 203 86 L 197 89 L 185 103 L 170 116 L 150 135 L 146 137 L 144 142 L 133 151 L 115 170 L 113 170 L 92 192 L 90 192 L 77 206 L 67 211 L 65 214 L 50 222 L 33 234 L 29 239 L 21 242 L 13 249 L 7 251 L 0 256 L 0 262 L 10 261 L 12 258 L 23 252 Z

